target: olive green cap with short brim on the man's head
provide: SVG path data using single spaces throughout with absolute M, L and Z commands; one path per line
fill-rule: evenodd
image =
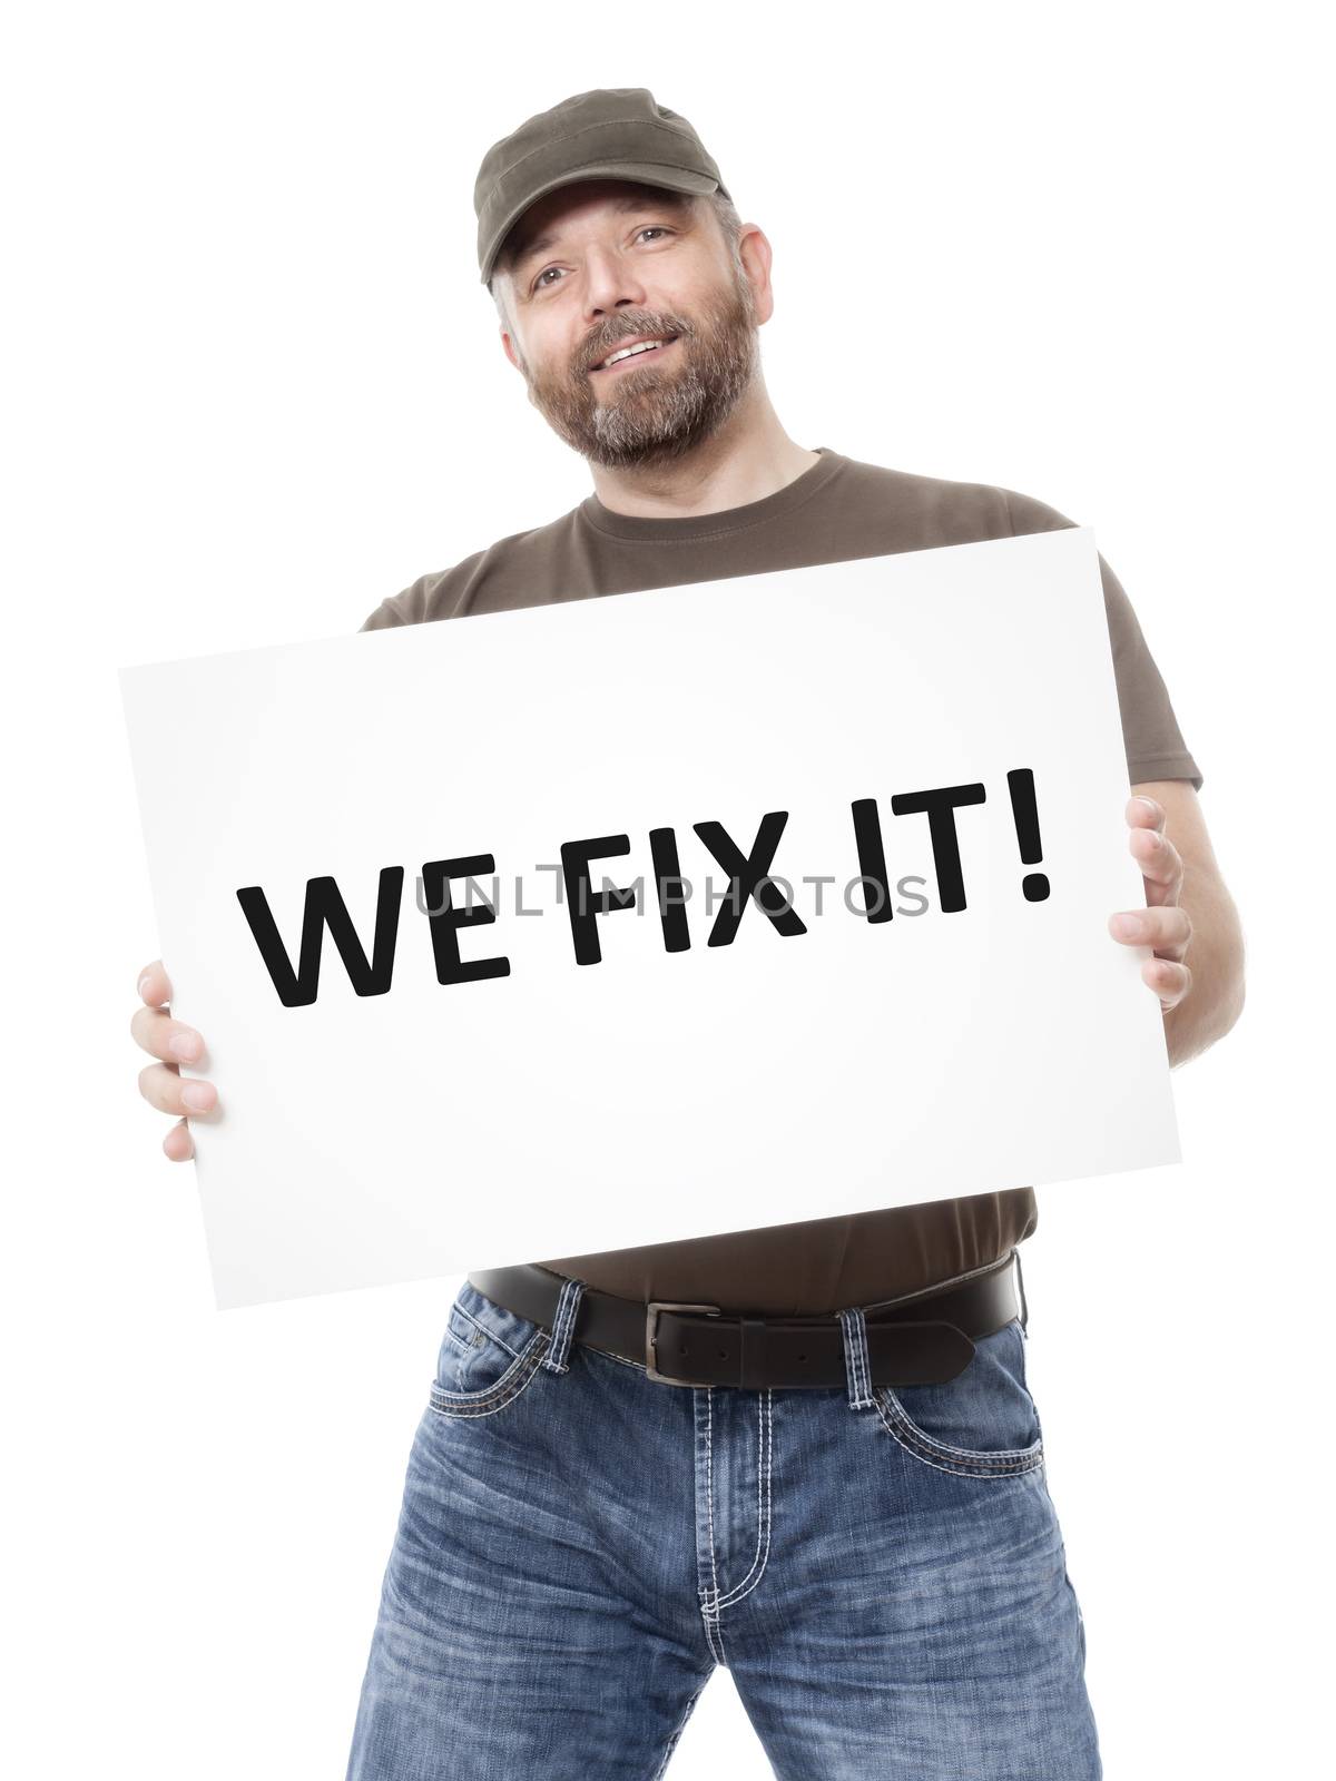
M 672 192 L 729 196 L 697 132 L 680 112 L 657 105 L 648 87 L 575 93 L 483 155 L 474 185 L 483 283 L 529 205 L 579 180 L 636 180 Z

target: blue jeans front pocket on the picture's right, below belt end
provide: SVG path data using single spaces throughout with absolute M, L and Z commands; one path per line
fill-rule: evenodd
M 875 1386 L 882 1423 L 925 1466 L 1008 1478 L 1044 1464 L 1044 1430 L 1026 1386 L 1021 1320 L 976 1338 L 969 1366 L 937 1386 Z

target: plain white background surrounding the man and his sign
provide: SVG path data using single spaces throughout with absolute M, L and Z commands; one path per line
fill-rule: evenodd
M 1309 23 L 1313 21 L 1313 23 Z M 775 248 L 805 447 L 1096 527 L 1206 775 L 1249 1006 L 1181 1170 L 1040 1190 L 1030 1382 L 1110 1777 L 1329 1747 L 1332 290 L 1316 16 L 1220 5 L 46 5 L 7 32 L 11 1758 L 342 1776 L 456 1281 L 212 1309 L 135 1094 L 116 668 L 356 629 L 570 508 L 472 182 L 650 85 Z M 857 340 L 857 346 L 850 342 Z M 200 737 L 166 707 L 164 748 Z M 169 964 L 169 962 L 167 962 Z M 226 1094 L 226 1085 L 223 1085 Z M 673 1777 L 768 1765 L 725 1672 Z

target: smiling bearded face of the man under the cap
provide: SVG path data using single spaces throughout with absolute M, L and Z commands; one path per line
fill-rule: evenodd
M 709 199 L 625 180 L 565 185 L 506 237 L 502 340 L 529 401 L 582 458 L 670 463 L 718 431 L 752 383 L 770 313 L 764 262 L 752 276 Z M 643 340 L 659 344 L 606 363 Z

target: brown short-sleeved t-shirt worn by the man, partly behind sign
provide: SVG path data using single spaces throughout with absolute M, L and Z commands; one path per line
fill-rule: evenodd
M 807 568 L 851 557 L 930 550 L 1046 533 L 1074 520 L 1042 500 L 987 483 L 859 463 L 825 445 L 786 488 L 723 513 L 659 520 L 613 513 L 599 495 L 549 525 L 501 538 L 454 568 L 422 575 L 367 618 L 363 630 L 467 618 L 556 600 L 672 588 L 725 575 Z M 1188 753 L 1165 682 L 1113 570 L 1099 557 L 1128 753 L 1128 784 L 1202 775 Z M 812 1204 L 823 1197 L 812 1183 Z M 759 1314 L 873 1304 L 999 1261 L 1039 1224 L 1030 1186 L 802 1224 L 547 1257 L 627 1298 L 677 1298 Z

